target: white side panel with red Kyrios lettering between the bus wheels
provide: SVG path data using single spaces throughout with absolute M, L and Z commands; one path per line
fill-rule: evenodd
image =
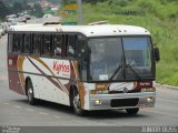
M 70 72 L 63 72 L 68 65 L 68 60 L 26 57 L 22 71 L 26 72 L 24 78 L 32 81 L 34 98 L 69 105 L 67 84 L 70 82 Z

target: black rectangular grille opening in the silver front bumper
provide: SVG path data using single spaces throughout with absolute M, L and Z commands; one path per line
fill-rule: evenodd
M 121 106 L 136 106 L 138 104 L 139 99 L 120 99 L 120 100 L 111 100 L 111 108 L 121 108 Z

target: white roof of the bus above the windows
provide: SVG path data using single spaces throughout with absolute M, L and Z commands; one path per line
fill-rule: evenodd
M 79 32 L 85 34 L 86 37 L 150 34 L 148 30 L 141 27 L 123 25 L 123 24 L 100 24 L 100 25 L 22 24 L 22 25 L 12 25 L 10 31 Z

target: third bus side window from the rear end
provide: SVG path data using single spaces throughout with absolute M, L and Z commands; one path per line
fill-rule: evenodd
M 31 34 L 24 34 L 23 53 L 30 53 Z

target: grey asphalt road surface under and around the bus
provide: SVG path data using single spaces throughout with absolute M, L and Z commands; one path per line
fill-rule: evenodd
M 51 132 L 50 129 L 46 130 L 44 126 L 56 126 L 52 127 L 52 131 L 59 131 L 58 126 L 68 126 L 62 131 L 75 131 L 75 127 L 69 126 L 87 126 L 85 129 L 80 127 L 81 133 L 88 133 L 89 131 L 109 133 L 109 129 L 112 132 L 141 132 L 142 126 L 176 126 L 178 125 L 178 90 L 158 88 L 156 106 L 142 109 L 137 115 L 132 116 L 125 111 L 96 111 L 80 117 L 75 115 L 70 108 L 60 104 L 40 102 L 40 104 L 32 106 L 28 104 L 26 96 L 9 90 L 7 35 L 4 35 L 0 39 L 0 126 L 3 126 L 3 130 L 7 125 L 36 126 L 33 130 L 37 130 L 37 132 L 39 132 L 37 126 L 43 126 L 42 132 Z M 96 126 L 100 130 L 93 130 L 95 127 L 91 130 L 89 126 Z M 122 127 L 118 129 L 118 126 Z M 129 126 L 139 126 L 139 129 Z M 26 132 L 30 131 L 31 129 L 26 129 Z

